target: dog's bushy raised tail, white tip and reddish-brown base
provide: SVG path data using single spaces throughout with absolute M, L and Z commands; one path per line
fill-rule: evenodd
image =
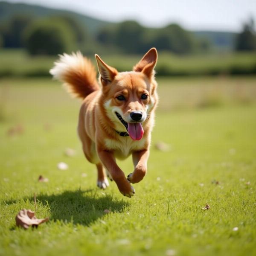
M 90 93 L 99 90 L 96 70 L 81 52 L 71 55 L 64 53 L 59 57 L 58 61 L 54 62 L 50 74 L 54 79 L 61 81 L 71 95 L 84 99 Z

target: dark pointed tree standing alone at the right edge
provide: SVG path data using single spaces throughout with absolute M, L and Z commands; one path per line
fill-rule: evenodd
M 255 51 L 256 50 L 256 33 L 254 30 L 253 19 L 245 23 L 242 32 L 236 39 L 237 51 Z

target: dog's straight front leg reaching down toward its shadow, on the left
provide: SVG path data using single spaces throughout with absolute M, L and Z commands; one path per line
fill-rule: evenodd
M 135 194 L 135 190 L 126 179 L 125 174 L 116 164 L 116 159 L 113 152 L 99 149 L 98 156 L 102 164 L 106 167 L 106 169 L 108 169 L 108 172 L 110 172 L 113 180 L 118 186 L 119 191 L 125 196 L 132 197 Z

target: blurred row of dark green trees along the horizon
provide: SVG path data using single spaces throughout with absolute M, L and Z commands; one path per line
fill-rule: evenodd
M 144 53 L 151 47 L 175 54 L 209 52 L 210 41 L 183 29 L 178 24 L 163 28 L 146 28 L 136 21 L 124 21 L 102 27 L 94 35 L 86 24 L 69 16 L 44 19 L 17 15 L 0 26 L 0 46 L 26 48 L 31 55 L 56 55 L 81 49 L 94 52 Z M 234 41 L 234 50 L 255 51 L 256 33 L 253 20 L 244 24 Z

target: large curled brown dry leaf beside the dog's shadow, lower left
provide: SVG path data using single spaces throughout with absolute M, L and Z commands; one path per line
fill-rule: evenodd
M 21 210 L 16 218 L 16 225 L 28 229 L 29 226 L 37 227 L 39 224 L 42 224 L 49 220 L 49 218 L 38 219 L 35 217 L 35 212 L 31 210 L 23 209 Z

